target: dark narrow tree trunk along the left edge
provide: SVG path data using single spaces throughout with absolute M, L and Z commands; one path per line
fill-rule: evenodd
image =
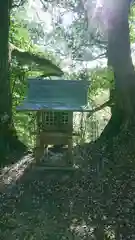
M 8 63 L 9 1 L 0 1 L 0 152 L 7 148 L 7 129 L 11 121 L 11 93 Z M 3 155 L 3 154 L 2 154 Z

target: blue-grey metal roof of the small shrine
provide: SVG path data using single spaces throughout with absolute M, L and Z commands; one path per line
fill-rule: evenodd
M 85 111 L 88 87 L 82 80 L 30 79 L 27 98 L 17 110 Z

